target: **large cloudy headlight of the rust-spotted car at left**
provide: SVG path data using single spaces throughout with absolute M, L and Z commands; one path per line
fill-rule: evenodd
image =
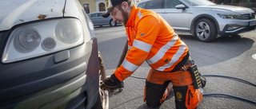
M 3 63 L 69 49 L 83 43 L 82 24 L 75 18 L 31 22 L 15 28 L 6 43 Z

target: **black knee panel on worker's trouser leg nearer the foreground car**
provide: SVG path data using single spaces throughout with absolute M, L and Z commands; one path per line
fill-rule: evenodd
M 146 80 L 144 102 L 146 101 L 150 107 L 160 107 L 163 103 L 162 96 L 169 83 L 170 81 L 166 81 L 164 84 L 153 84 Z

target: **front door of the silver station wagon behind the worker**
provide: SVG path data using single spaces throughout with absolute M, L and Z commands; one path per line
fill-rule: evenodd
M 158 14 L 178 33 L 187 33 L 190 30 L 190 9 L 176 9 L 175 6 L 180 4 L 179 0 L 164 0 L 162 12 Z

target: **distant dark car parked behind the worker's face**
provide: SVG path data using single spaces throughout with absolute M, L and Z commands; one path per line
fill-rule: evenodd
M 88 14 L 90 20 L 94 23 L 94 25 L 110 25 L 110 26 L 116 26 L 120 24 L 117 21 L 113 21 L 112 16 L 109 16 L 108 18 L 102 17 L 103 12 L 95 12 Z

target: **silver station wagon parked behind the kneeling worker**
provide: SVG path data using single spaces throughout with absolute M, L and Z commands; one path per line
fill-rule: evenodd
M 208 0 L 144 0 L 136 6 L 160 14 L 177 33 L 191 33 L 199 41 L 214 41 L 254 30 L 254 10 L 216 5 Z

